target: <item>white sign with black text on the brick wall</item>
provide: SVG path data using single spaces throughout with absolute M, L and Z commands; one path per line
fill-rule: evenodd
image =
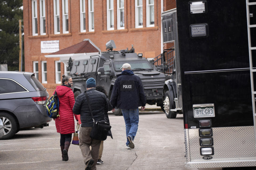
M 41 53 L 54 53 L 59 51 L 59 40 L 41 41 Z

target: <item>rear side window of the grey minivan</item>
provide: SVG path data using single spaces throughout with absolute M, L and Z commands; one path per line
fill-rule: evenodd
M 25 88 L 21 87 L 18 83 L 11 79 L 0 78 L 0 94 L 6 93 L 18 93 L 27 91 Z

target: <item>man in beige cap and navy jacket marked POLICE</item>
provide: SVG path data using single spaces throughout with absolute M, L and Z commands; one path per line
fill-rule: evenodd
M 126 127 L 126 148 L 134 148 L 134 137 L 138 130 L 139 109 L 145 109 L 146 97 L 141 79 L 131 71 L 129 63 L 123 64 L 122 73 L 117 75 L 110 103 L 113 108 L 122 109 Z M 114 112 L 115 109 L 112 109 Z

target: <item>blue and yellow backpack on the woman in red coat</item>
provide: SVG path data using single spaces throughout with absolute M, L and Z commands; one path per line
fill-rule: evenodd
M 57 118 L 59 116 L 59 98 L 57 92 L 46 103 L 47 115 L 50 118 Z

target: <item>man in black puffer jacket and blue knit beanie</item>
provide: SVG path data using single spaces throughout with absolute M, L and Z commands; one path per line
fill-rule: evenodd
M 104 120 L 105 112 L 111 110 L 111 105 L 106 95 L 95 90 L 96 82 L 94 78 L 89 78 L 86 81 L 86 94 L 89 97 L 91 110 L 93 112 L 94 121 Z M 110 109 L 110 110 L 109 110 Z M 93 126 L 93 118 L 85 97 L 85 93 L 80 94 L 75 99 L 73 107 L 74 114 L 80 114 L 81 129 L 79 131 L 79 146 L 83 155 L 83 160 L 86 165 L 86 170 L 95 170 L 99 156 L 99 146 L 101 141 L 91 139 L 90 133 Z M 91 151 L 90 151 L 91 146 Z

